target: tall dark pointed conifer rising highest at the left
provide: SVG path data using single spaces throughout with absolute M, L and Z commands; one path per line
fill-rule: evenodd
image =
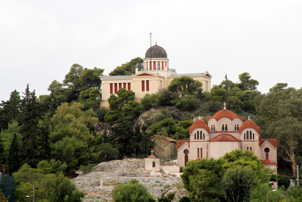
M 22 138 L 22 163 L 27 163 L 31 168 L 36 168 L 41 160 L 48 158 L 50 154 L 50 142 L 48 131 L 39 126 L 40 109 L 36 101 L 35 90 L 25 89 L 22 100 L 22 112 L 20 116 Z

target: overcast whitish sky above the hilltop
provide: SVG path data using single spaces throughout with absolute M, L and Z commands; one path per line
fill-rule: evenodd
M 302 1 L 0 0 L 0 101 L 49 94 L 74 63 L 105 69 L 163 47 L 177 73 L 208 70 L 212 85 L 249 72 L 267 93 L 300 88 Z

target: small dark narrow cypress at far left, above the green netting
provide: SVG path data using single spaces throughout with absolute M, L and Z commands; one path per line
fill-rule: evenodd
M 17 134 L 14 134 L 14 138 L 11 141 L 11 146 L 9 147 L 8 158 L 6 160 L 6 165 L 8 165 L 9 172 L 12 174 L 19 170 L 21 167 L 21 157 L 19 153 L 19 144 L 17 142 Z

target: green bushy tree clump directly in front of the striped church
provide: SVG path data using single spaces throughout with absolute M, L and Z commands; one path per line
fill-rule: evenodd
M 245 177 L 236 179 L 236 173 Z M 193 201 L 226 201 L 225 197 L 230 201 L 244 201 L 251 188 L 258 188 L 270 180 L 270 173 L 252 152 L 235 150 L 219 159 L 189 161 L 181 177 Z M 238 187 L 233 187 L 232 181 Z M 249 181 L 252 187 L 245 186 L 242 181 Z M 242 195 L 243 200 L 239 200 L 237 191 L 243 190 L 247 195 Z

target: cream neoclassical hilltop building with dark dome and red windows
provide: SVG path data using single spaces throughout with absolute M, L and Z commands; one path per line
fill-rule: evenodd
M 176 69 L 169 68 L 167 52 L 157 44 L 146 51 L 143 61 L 143 70 L 140 71 L 136 68 L 135 74 L 133 75 L 101 77 L 101 106 L 108 107 L 109 103 L 107 99 L 111 94 L 116 94 L 116 91 L 120 88 L 133 90 L 133 92 L 135 92 L 135 100 L 140 102 L 140 99 L 142 99 L 146 93 L 156 93 L 159 90 L 165 89 L 174 78 L 184 75 L 200 81 L 203 91 L 210 91 L 212 78 L 210 73 L 177 73 Z

